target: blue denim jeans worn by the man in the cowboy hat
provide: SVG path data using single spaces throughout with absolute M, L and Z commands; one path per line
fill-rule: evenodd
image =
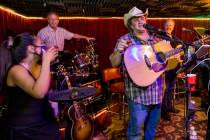
M 140 140 L 143 126 L 144 140 L 153 140 L 160 120 L 161 105 L 143 105 L 129 101 L 128 107 L 130 114 L 127 130 L 128 140 Z

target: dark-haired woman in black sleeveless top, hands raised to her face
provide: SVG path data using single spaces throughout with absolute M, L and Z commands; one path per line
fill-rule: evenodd
M 42 53 L 38 39 L 28 33 L 14 38 L 15 64 L 6 79 L 8 95 L 7 138 L 9 140 L 58 140 L 56 119 L 49 105 L 50 63 L 57 57 L 54 47 Z M 42 54 L 42 55 L 41 55 Z M 32 73 L 42 59 L 40 73 Z

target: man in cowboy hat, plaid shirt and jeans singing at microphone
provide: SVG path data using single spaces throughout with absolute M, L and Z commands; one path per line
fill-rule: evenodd
M 129 123 L 127 137 L 129 140 L 139 140 L 142 137 L 144 125 L 144 139 L 154 139 L 156 127 L 160 120 L 163 78 L 160 76 L 153 84 L 147 87 L 136 85 L 127 73 L 122 59 L 126 48 L 132 45 L 152 45 L 159 39 L 150 35 L 143 27 L 146 23 L 148 10 L 143 13 L 137 7 L 133 7 L 124 15 L 124 24 L 129 33 L 121 36 L 109 59 L 113 67 L 122 66 L 125 81 L 125 94 L 128 100 Z M 137 73 L 138 74 L 138 73 Z M 149 76 L 149 75 L 148 75 Z

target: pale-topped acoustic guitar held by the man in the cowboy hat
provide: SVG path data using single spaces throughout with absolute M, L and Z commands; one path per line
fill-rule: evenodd
M 130 78 L 138 86 L 146 87 L 166 71 L 167 60 L 182 48 L 173 49 L 167 41 L 153 46 L 133 45 L 126 49 L 124 62 Z

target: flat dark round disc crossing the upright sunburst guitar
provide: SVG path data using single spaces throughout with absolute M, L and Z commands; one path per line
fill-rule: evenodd
M 54 102 L 78 101 L 91 97 L 97 93 L 94 87 L 72 87 L 61 91 L 51 91 L 48 93 L 49 100 Z

